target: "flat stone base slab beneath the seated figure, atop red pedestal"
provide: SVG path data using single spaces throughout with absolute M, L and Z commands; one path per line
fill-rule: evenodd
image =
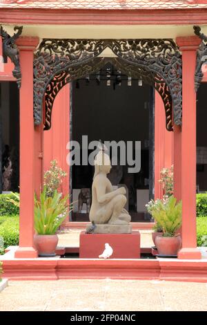
M 92 224 L 86 225 L 86 232 L 90 230 Z M 102 225 L 95 225 L 93 234 L 130 234 L 132 232 L 132 225 L 109 225 L 108 223 Z

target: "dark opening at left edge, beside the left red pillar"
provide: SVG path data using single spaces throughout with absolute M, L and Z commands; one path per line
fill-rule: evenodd
M 0 82 L 1 192 L 19 192 L 19 89 Z

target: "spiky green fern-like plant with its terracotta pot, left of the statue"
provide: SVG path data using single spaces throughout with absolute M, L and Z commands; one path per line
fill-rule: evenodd
M 41 257 L 55 256 L 58 237 L 57 229 L 61 225 L 68 212 L 72 210 L 72 203 L 68 205 L 68 196 L 61 198 L 62 194 L 55 192 L 47 196 L 47 187 L 43 187 L 39 200 L 34 199 L 34 245 Z

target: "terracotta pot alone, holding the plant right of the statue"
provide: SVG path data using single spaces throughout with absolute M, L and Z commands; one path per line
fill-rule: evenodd
M 177 255 L 177 252 L 181 247 L 181 237 L 157 236 L 155 239 L 155 245 L 157 247 L 159 255 Z

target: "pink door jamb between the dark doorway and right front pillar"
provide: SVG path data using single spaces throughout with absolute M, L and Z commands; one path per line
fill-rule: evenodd
M 155 199 L 162 198 L 161 169 L 172 165 L 172 132 L 166 130 L 166 113 L 161 96 L 155 91 Z

